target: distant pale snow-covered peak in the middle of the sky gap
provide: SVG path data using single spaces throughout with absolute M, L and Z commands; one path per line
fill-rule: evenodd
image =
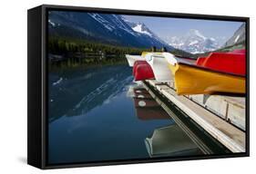
M 189 33 L 183 36 L 169 38 L 169 45 L 189 53 L 210 52 L 220 48 L 223 42 L 223 39 L 208 38 L 195 29 L 190 29 Z

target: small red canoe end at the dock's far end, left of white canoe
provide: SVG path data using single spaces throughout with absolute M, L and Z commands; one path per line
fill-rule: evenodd
M 155 79 L 155 75 L 150 65 L 146 61 L 139 61 L 139 63 L 135 62 L 135 64 L 133 65 L 133 75 L 135 81 Z

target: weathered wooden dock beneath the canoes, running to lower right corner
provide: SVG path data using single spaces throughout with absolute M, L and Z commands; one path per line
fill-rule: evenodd
M 153 80 L 147 83 L 230 151 L 245 152 L 245 132 L 242 131 L 245 130 L 244 99 L 215 95 L 182 96 L 177 95 L 171 83 Z M 148 89 L 146 83 L 144 85 Z

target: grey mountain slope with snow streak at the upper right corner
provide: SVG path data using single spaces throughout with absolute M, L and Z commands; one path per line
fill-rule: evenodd
M 223 47 L 241 43 L 243 41 L 245 41 L 245 24 L 241 24 L 239 29 L 230 37 Z

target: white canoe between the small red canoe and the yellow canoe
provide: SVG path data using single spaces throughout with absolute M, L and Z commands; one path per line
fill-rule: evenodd
M 147 53 L 145 58 L 151 66 L 155 79 L 158 82 L 173 81 L 172 73 L 169 71 L 168 62 L 162 53 Z

